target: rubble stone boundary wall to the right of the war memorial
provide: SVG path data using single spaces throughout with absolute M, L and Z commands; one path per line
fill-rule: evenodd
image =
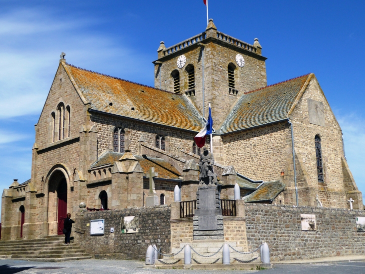
M 308 259 L 363 254 L 365 233 L 356 232 L 356 216 L 363 210 L 245 204 L 248 249 L 262 241 L 271 260 Z M 300 214 L 314 214 L 317 230 L 302 231 Z

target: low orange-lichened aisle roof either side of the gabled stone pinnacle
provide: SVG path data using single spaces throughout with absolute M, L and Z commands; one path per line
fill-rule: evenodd
M 123 156 L 123 153 L 107 151 L 103 153 L 97 161 L 90 166 L 90 168 L 97 168 L 103 165 L 113 165 L 121 156 Z M 157 178 L 180 180 L 179 176 L 181 176 L 181 174 L 165 160 L 148 156 L 133 156 L 138 160 L 143 170 L 143 176 L 147 175 L 150 167 L 154 167 L 154 171 L 158 173 Z

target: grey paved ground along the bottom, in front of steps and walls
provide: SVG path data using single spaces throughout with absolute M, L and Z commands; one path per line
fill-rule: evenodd
M 160 273 L 191 273 L 191 274 L 218 274 L 218 273 L 254 273 L 262 274 L 365 274 L 365 262 L 329 262 L 311 264 L 274 264 L 273 269 L 266 270 L 178 270 L 178 269 L 145 269 L 141 261 L 134 260 L 76 260 L 66 262 L 34 262 L 24 260 L 0 260 L 1 274 L 160 274 Z

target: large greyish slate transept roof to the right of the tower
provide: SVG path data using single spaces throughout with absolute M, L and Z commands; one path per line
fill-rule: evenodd
M 286 119 L 309 76 L 244 93 L 216 133 L 226 134 Z

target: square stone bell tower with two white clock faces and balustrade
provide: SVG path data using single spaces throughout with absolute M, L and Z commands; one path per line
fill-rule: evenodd
M 211 103 L 217 128 L 244 92 L 266 86 L 266 58 L 253 45 L 218 32 L 212 19 L 205 32 L 166 48 L 154 64 L 154 86 L 187 96 L 206 118 Z

